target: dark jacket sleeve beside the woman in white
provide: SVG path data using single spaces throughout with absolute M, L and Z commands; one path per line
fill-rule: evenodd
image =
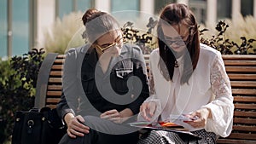
M 149 89 L 148 89 L 148 75 L 147 75 L 147 69 L 145 60 L 143 57 L 143 53 L 141 50 L 138 50 L 139 48 L 133 48 L 134 49 L 134 57 L 132 57 L 133 61 L 133 73 L 134 76 L 140 79 L 142 82 L 143 88 L 140 92 L 139 96 L 137 97 L 136 101 L 131 102 L 131 104 L 128 105 L 127 108 L 130 108 L 131 111 L 134 114 L 137 114 L 139 112 L 139 107 L 142 105 L 143 101 L 145 101 L 148 98 L 149 95 Z M 136 87 L 137 82 L 133 82 L 133 85 Z

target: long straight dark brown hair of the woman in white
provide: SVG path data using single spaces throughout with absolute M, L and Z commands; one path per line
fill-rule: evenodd
M 183 3 L 171 3 L 160 13 L 160 20 L 157 26 L 158 44 L 160 50 L 160 71 L 167 81 L 172 80 L 176 58 L 172 50 L 164 43 L 164 34 L 161 28 L 163 22 L 171 26 L 183 24 L 189 28 L 189 37 L 186 47 L 188 52 L 184 55 L 183 75 L 181 84 L 188 83 L 192 72 L 195 70 L 200 52 L 199 32 L 195 15 Z M 192 63 L 192 65 L 191 65 Z

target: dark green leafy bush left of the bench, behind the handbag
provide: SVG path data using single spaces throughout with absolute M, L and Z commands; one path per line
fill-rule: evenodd
M 34 106 L 38 70 L 44 60 L 43 49 L 32 49 L 22 56 L 1 61 L 0 70 L 0 130 L 1 141 L 9 139 L 15 122 L 15 112 Z

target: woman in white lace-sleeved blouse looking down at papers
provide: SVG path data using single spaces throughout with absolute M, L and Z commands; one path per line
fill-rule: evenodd
M 232 130 L 230 79 L 221 54 L 199 42 L 195 15 L 181 3 L 166 5 L 157 27 L 159 49 L 150 55 L 152 95 L 138 120 L 172 121 L 201 136 L 196 143 L 216 143 Z M 151 131 L 138 143 L 186 143 L 180 135 Z

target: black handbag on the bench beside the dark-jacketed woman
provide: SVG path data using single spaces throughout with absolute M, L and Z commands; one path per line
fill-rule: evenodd
M 15 114 L 12 144 L 57 144 L 66 132 L 55 108 L 19 111 Z

